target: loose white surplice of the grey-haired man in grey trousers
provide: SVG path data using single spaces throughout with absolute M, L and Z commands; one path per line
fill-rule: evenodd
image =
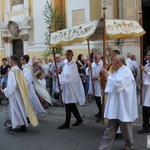
M 122 122 L 133 122 L 138 118 L 136 83 L 127 66 L 108 76 L 105 92 L 108 93 L 105 118 Z

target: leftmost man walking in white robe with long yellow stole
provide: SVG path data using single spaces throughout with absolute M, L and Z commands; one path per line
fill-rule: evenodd
M 9 119 L 12 123 L 12 129 L 21 126 L 17 131 L 26 132 L 27 116 L 33 126 L 37 126 L 38 121 L 28 102 L 28 86 L 22 71 L 17 66 L 19 59 L 16 55 L 12 55 L 10 58 L 11 70 L 8 73 L 7 87 L 2 92 L 9 100 Z

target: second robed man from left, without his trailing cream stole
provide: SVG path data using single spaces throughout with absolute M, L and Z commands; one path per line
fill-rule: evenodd
M 44 110 L 43 106 L 41 105 L 41 102 L 36 94 L 34 84 L 33 84 L 33 73 L 31 72 L 30 65 L 28 64 L 29 62 L 29 55 L 23 55 L 21 57 L 21 64 L 23 68 L 23 75 L 26 79 L 26 82 L 28 84 L 29 88 L 29 99 L 30 99 L 30 104 L 35 112 L 35 114 L 46 114 L 46 111 Z

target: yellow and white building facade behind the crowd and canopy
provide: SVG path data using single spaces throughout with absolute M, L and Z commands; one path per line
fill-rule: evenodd
M 45 32 L 43 10 L 47 0 L 0 0 L 0 59 L 12 54 L 29 54 L 41 58 L 45 51 Z M 102 18 L 105 5 L 106 18 L 139 20 L 143 9 L 143 23 L 147 34 L 144 36 L 144 49 L 149 45 L 148 0 L 49 0 L 53 7 L 59 6 L 66 15 L 67 27 L 72 27 Z M 141 5 L 142 3 L 142 5 Z M 149 24 L 149 26 L 148 26 Z M 107 41 L 112 48 L 119 49 L 124 55 L 132 52 L 140 59 L 139 37 Z M 102 41 L 90 42 L 91 48 L 102 52 Z M 87 43 L 64 47 L 73 49 L 75 58 L 79 53 L 87 53 Z

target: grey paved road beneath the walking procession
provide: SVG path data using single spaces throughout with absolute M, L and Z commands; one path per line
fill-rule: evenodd
M 0 109 L 0 150 L 97 150 L 105 125 L 95 122 L 96 104 L 92 102 L 78 108 L 84 118 L 81 126 L 58 130 L 57 127 L 64 122 L 65 111 L 64 108 L 53 106 L 47 109 L 46 117 L 38 117 L 39 126 L 33 128 L 29 125 L 27 133 L 11 135 L 2 125 L 7 117 L 7 109 L 3 106 Z M 137 134 L 142 123 L 141 107 L 139 112 L 139 119 L 133 124 L 134 148 L 146 150 L 147 134 Z M 72 117 L 71 124 L 74 122 L 75 119 Z M 123 144 L 122 138 L 116 139 L 113 150 L 120 150 Z

